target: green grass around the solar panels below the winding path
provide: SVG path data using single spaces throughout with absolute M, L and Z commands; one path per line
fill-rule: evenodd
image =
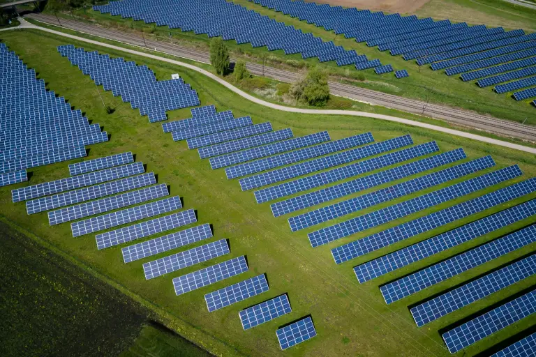
M 290 234 L 286 223 L 287 217 L 274 219 L 269 211 L 268 204 L 255 204 L 251 192 L 241 192 L 235 181 L 225 179 L 222 170 L 212 171 L 208 162 L 199 159 L 198 153 L 188 151 L 185 143 L 174 143 L 169 135 L 164 135 L 161 126 L 149 124 L 147 117 L 130 108 L 120 98 L 114 98 L 110 92 L 103 92 L 96 88 L 89 76 L 84 76 L 68 60 L 61 58 L 56 51 L 57 45 L 72 43 L 87 50 L 100 50 L 112 56 L 123 56 L 125 59 L 136 61 L 138 64 L 147 64 L 154 70 L 159 79 L 169 78 L 171 73 L 179 73 L 184 80 L 198 91 L 202 105 L 214 104 L 218 111 L 232 109 L 235 116 L 251 115 L 255 123 L 271 121 L 274 130 L 290 127 L 295 136 L 306 135 L 319 130 L 329 130 L 332 139 L 348 137 L 359 132 L 371 131 L 376 141 L 389 139 L 410 133 L 416 144 L 436 140 L 442 151 L 456 149 L 460 146 L 466 150 L 468 160 L 492 154 L 498 167 L 519 164 L 525 175 L 523 179 L 535 176 L 536 158 L 534 155 L 520 153 L 509 149 L 502 149 L 491 145 L 472 142 L 468 139 L 459 139 L 442 135 L 438 132 L 421 130 L 396 123 L 386 123 L 366 118 L 349 118 L 342 116 L 300 115 L 277 112 L 265 107 L 254 105 L 234 95 L 215 82 L 184 68 L 170 66 L 166 63 L 150 61 L 136 56 L 126 56 L 124 53 L 115 53 L 110 50 L 99 49 L 86 43 L 75 43 L 63 38 L 35 31 L 9 31 L 1 34 L 1 39 L 10 50 L 19 54 L 30 68 L 36 68 L 40 78 L 44 78 L 47 87 L 56 91 L 59 96 L 65 96 L 75 109 L 82 109 L 93 123 L 100 123 L 104 130 L 112 137 L 110 142 L 90 146 L 89 158 L 97 158 L 112 153 L 133 151 L 137 161 L 147 164 L 147 171 L 158 174 L 158 181 L 168 183 L 171 195 L 184 197 L 185 208 L 198 210 L 200 223 L 209 222 L 214 226 L 215 238 L 228 238 L 232 257 L 246 255 L 250 271 L 243 275 L 231 278 L 224 282 L 214 284 L 204 289 L 193 291 L 184 296 L 177 297 L 172 290 L 171 279 L 175 276 L 195 271 L 200 266 L 214 264 L 200 264 L 193 268 L 186 268 L 179 273 L 173 273 L 162 278 L 145 281 L 140 262 L 125 265 L 121 259 L 120 248 L 110 248 L 98 252 L 95 247 L 94 236 L 72 238 L 68 225 L 50 227 L 46 214 L 28 217 L 24 204 L 10 202 L 10 189 L 20 187 L 21 184 L 0 190 L 0 212 L 11 222 L 31 231 L 54 245 L 65 255 L 73 257 L 80 264 L 91 266 L 93 270 L 107 280 L 118 284 L 122 289 L 137 300 L 161 314 L 165 325 L 177 333 L 188 337 L 204 349 L 213 354 L 251 355 L 251 356 L 279 356 L 282 355 L 276 340 L 275 330 L 278 326 L 287 324 L 295 319 L 311 314 L 318 337 L 293 347 L 285 352 L 288 356 L 449 356 L 445 349 L 438 330 L 450 324 L 486 309 L 512 294 L 523 291 L 536 282 L 535 278 L 523 280 L 519 284 L 485 298 L 467 308 L 449 314 L 444 319 L 421 329 L 415 327 L 408 312 L 408 305 L 422 301 L 426 296 L 436 294 L 447 287 L 452 287 L 462 281 L 496 268 L 505 262 L 533 252 L 535 246 L 513 252 L 507 257 L 496 259 L 489 264 L 473 269 L 459 275 L 455 279 L 433 287 L 420 294 L 415 294 L 398 303 L 385 305 L 378 285 L 388 282 L 401 275 L 405 275 L 417 268 L 432 264 L 468 249 L 472 245 L 489 241 L 492 238 L 507 233 L 533 222 L 525 220 L 518 225 L 493 232 L 485 237 L 476 239 L 470 244 L 450 250 L 447 254 L 438 255 L 412 266 L 389 274 L 378 280 L 366 284 L 358 284 L 351 267 L 378 254 L 369 255 L 366 259 L 355 259 L 347 264 L 335 266 L 329 249 L 342 243 L 355 240 L 362 236 L 380 231 L 380 228 L 370 229 L 362 234 L 345 238 L 336 243 L 312 249 L 307 241 L 307 231 Z M 99 91 L 103 99 L 114 107 L 115 112 L 107 115 L 104 112 Z M 189 116 L 188 109 L 169 112 L 170 119 L 181 119 Z M 31 170 L 34 175 L 28 184 L 59 179 L 68 176 L 67 165 L 56 164 Z M 468 177 L 477 176 L 470 175 Z M 520 181 L 521 179 L 514 180 Z M 462 181 L 461 179 L 454 182 Z M 512 181 L 512 182 L 514 182 Z M 380 186 L 384 187 L 384 186 Z M 433 189 L 419 192 L 430 192 Z M 471 197 L 477 197 L 484 192 L 495 188 L 477 192 L 463 199 L 442 204 L 426 213 L 437 211 L 455 202 L 461 202 Z M 375 189 L 374 189 L 375 190 Z M 365 192 L 369 192 L 367 190 Z M 364 192 L 362 192 L 364 193 Z M 512 204 L 533 199 L 536 194 L 517 199 L 510 204 L 473 216 L 470 220 L 481 218 Z M 407 199 L 407 197 L 406 197 Z M 401 202 L 397 199 L 394 202 Z M 359 214 L 374 211 L 377 208 L 389 206 L 388 202 L 364 210 Z M 391 227 L 423 215 L 418 213 L 383 225 Z M 350 215 L 345 218 L 350 218 Z M 441 229 L 435 229 L 428 234 L 412 238 L 404 244 L 413 243 L 423 238 L 433 236 L 463 225 L 469 220 L 455 222 Z M 318 227 L 315 227 L 318 229 Z M 312 229 L 311 229 L 312 230 Z M 387 251 L 400 248 L 403 244 L 393 245 Z M 164 256 L 159 255 L 156 258 Z M 154 259 L 155 257 L 153 257 Z M 151 259 L 144 259 L 142 262 Z M 218 259 L 223 261 L 225 259 Z M 216 262 L 217 262 L 216 261 Z M 237 303 L 217 312 L 208 313 L 204 304 L 203 295 L 228 284 L 251 278 L 254 275 L 266 273 L 270 284 L 270 291 L 248 301 Z M 279 294 L 288 293 L 292 305 L 292 314 L 285 315 L 267 324 L 243 331 L 238 319 L 238 311 L 255 303 L 267 300 Z M 526 331 L 533 325 L 533 321 L 525 319 L 511 328 L 475 344 L 466 350 L 466 356 L 474 356 L 486 351 L 494 344 Z M 143 344 L 143 342 L 140 342 Z M 462 356 L 461 352 L 457 356 Z

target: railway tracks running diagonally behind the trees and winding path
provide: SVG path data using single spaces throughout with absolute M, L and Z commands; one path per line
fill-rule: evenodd
M 56 17 L 42 13 L 29 14 L 27 17 L 45 22 L 47 24 L 59 25 Z M 92 36 L 106 38 L 108 40 L 117 40 L 130 45 L 147 47 L 151 50 L 172 54 L 185 59 L 209 63 L 209 53 L 201 50 L 174 45 L 163 41 L 149 40 L 138 36 L 137 33 L 127 33 L 117 29 L 107 29 L 95 24 L 87 24 L 77 20 L 61 19 L 61 26 L 66 29 L 72 29 Z M 301 76 L 300 73 L 281 70 L 269 66 L 262 66 L 258 63 L 246 63 L 246 67 L 253 75 L 262 75 L 270 77 L 281 82 L 295 82 Z M 413 100 L 393 96 L 391 94 L 372 91 L 370 89 L 359 88 L 348 84 L 329 82 L 330 91 L 336 96 L 344 96 L 353 100 L 367 102 L 371 105 L 380 105 L 392 109 L 399 109 L 403 112 L 428 116 L 434 119 L 441 119 L 458 126 L 484 130 L 507 137 L 536 142 L 536 127 L 527 126 L 521 123 L 496 119 L 490 116 L 484 116 L 474 112 L 468 112 L 461 109 L 435 105 L 420 100 Z

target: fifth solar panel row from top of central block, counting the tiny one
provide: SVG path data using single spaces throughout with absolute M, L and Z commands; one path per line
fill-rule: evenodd
M 261 135 L 255 135 L 253 137 L 244 137 L 243 139 L 234 140 L 232 142 L 223 142 L 221 144 L 214 144 L 211 146 L 205 146 L 199 149 L 200 158 L 211 158 L 216 155 L 223 155 L 225 153 L 232 153 L 243 149 L 249 149 L 255 146 L 264 144 L 270 144 L 272 142 L 278 142 L 279 140 L 289 139 L 293 137 L 292 130 L 283 129 L 274 132 L 267 132 Z

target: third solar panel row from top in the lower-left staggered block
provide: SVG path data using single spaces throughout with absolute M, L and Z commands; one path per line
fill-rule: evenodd
M 54 208 L 69 206 L 70 204 L 89 201 L 90 199 L 114 195 L 119 192 L 133 190 L 154 183 L 156 183 L 156 177 L 153 172 L 149 172 L 147 174 L 127 177 L 126 179 L 59 193 L 58 195 L 32 199 L 31 201 L 26 202 L 26 211 L 31 215 L 33 213 L 48 211 Z

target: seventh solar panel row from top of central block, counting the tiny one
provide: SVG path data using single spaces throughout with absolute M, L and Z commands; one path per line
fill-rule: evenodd
M 275 167 L 292 164 L 301 160 L 316 158 L 317 156 L 327 155 L 328 153 L 334 153 L 335 151 L 349 149 L 353 146 L 359 146 L 373 141 L 372 134 L 367 132 L 366 134 L 345 137 L 344 139 L 335 140 L 334 142 L 325 142 L 320 145 L 227 167 L 225 169 L 225 174 L 227 174 L 228 179 L 235 179 L 240 176 L 255 174 L 256 172 L 274 169 Z

